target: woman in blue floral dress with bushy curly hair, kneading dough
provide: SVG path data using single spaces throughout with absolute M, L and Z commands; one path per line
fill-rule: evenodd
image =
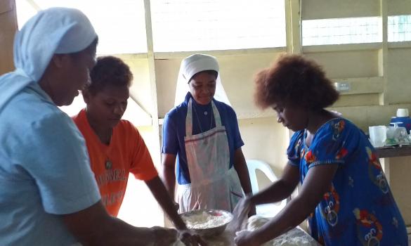
M 403 217 L 367 136 L 325 110 L 339 94 L 322 68 L 302 56 L 282 56 L 255 82 L 257 105 L 273 108 L 295 133 L 281 179 L 242 200 L 237 221 L 251 205 L 285 199 L 299 182 L 301 190 L 263 227 L 237 235 L 237 245 L 261 245 L 307 217 L 322 245 L 407 245 Z

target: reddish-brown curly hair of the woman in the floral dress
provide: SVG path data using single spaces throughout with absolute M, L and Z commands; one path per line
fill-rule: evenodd
M 260 71 L 254 82 L 254 101 L 263 109 L 283 103 L 320 110 L 339 98 L 322 67 L 299 55 L 280 56 L 271 67 Z

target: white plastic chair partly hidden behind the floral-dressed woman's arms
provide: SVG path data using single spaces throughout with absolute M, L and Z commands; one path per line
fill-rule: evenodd
M 266 174 L 266 176 L 268 177 L 268 179 L 270 179 L 271 182 L 277 180 L 277 176 L 275 176 L 273 169 L 271 169 L 270 165 L 261 160 L 247 160 L 247 169 L 252 184 L 253 194 L 259 192 L 259 183 L 257 182 L 256 175 L 257 169 L 261 170 L 263 174 Z M 275 214 L 278 214 L 278 212 L 280 212 L 282 208 L 285 207 L 286 203 L 287 200 L 282 200 L 281 202 L 257 205 L 256 214 L 263 217 L 273 217 L 275 216 Z

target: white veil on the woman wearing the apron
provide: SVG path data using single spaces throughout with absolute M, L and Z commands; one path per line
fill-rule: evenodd
M 174 106 L 182 103 L 185 99 L 185 95 L 188 91 L 190 91 L 190 87 L 188 86 L 190 79 L 195 74 L 197 74 L 197 72 L 206 70 L 214 70 L 218 73 L 214 99 L 231 105 L 230 101 L 228 101 L 226 91 L 224 91 L 223 84 L 221 84 L 221 77 L 219 72 L 220 67 L 218 66 L 217 59 L 214 56 L 194 54 L 188 56 L 187 58 L 184 58 L 184 60 L 181 61 L 180 71 L 178 72 L 176 99 L 174 101 Z

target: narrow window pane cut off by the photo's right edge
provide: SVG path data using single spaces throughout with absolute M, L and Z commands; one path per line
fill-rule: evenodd
M 389 16 L 388 41 L 411 41 L 411 15 Z

